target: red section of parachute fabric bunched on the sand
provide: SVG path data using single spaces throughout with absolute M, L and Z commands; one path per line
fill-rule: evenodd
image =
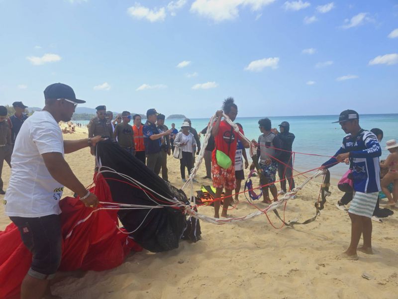
M 109 187 L 101 176 L 91 191 L 100 201 L 112 202 Z M 59 270 L 108 270 L 119 266 L 130 251 L 142 250 L 128 234 L 117 229 L 117 210 L 94 211 L 70 197 L 62 199 L 60 207 L 63 244 Z M 13 223 L 0 231 L 0 244 L 0 299 L 5 299 L 19 293 L 32 255 Z

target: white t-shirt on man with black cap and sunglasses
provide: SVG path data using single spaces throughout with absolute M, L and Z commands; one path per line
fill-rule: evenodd
M 11 157 L 11 176 L 5 194 L 8 216 L 42 217 L 60 214 L 64 186 L 50 175 L 44 153 L 64 155 L 60 126 L 47 111 L 36 111 L 21 126 Z

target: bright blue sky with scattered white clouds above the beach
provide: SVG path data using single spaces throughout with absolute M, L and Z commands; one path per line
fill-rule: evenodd
M 209 117 L 397 112 L 398 1 L 0 0 L 0 100 Z

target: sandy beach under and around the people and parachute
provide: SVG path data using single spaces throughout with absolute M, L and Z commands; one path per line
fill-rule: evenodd
M 76 130 L 64 134 L 64 138 L 87 136 L 85 128 Z M 89 149 L 65 157 L 79 180 L 89 186 L 94 171 Z M 181 188 L 179 161 L 170 157 L 168 169 L 171 183 Z M 196 190 L 201 184 L 211 184 L 201 179 L 204 172 L 203 163 Z M 4 190 L 9 174 L 4 163 Z M 298 183 L 302 180 L 297 178 Z M 320 184 L 320 179 L 310 182 L 297 199 L 288 201 L 286 220 L 306 220 L 314 215 Z M 398 298 L 397 209 L 383 223 L 373 222 L 376 254 L 359 252 L 358 261 L 340 260 L 337 256 L 349 245 L 351 225 L 348 213 L 334 206 L 342 195 L 335 186 L 330 188 L 332 195 L 321 215 L 308 225 L 275 229 L 265 215 L 240 224 L 201 222 L 202 239 L 197 243 L 182 241 L 178 249 L 165 253 L 144 250 L 131 254 L 121 266 L 109 271 L 59 273 L 52 292 L 63 299 Z M 64 196 L 72 194 L 70 190 L 64 192 Z M 1 205 L 0 229 L 10 222 L 3 210 Z M 237 208 L 230 213 L 242 216 L 254 210 L 241 195 Z M 200 207 L 199 212 L 212 215 L 213 208 Z M 269 217 L 274 225 L 281 226 L 273 213 Z M 364 272 L 370 280 L 362 277 Z

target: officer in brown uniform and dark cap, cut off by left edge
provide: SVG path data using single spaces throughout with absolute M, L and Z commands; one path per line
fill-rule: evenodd
M 4 195 L 3 180 L 1 180 L 1 173 L 3 170 L 4 160 L 11 167 L 11 129 L 7 121 L 7 108 L 0 106 L 0 194 Z

